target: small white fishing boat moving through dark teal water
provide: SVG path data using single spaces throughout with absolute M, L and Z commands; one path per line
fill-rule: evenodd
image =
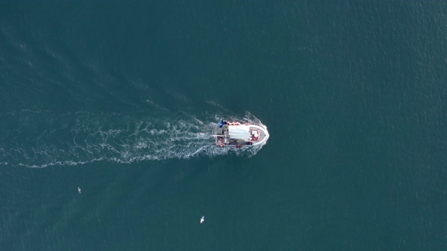
M 256 146 L 267 142 L 267 128 L 250 123 L 220 121 L 214 131 L 217 146 Z

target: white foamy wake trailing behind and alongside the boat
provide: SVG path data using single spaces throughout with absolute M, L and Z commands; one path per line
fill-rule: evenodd
M 51 111 L 0 114 L 0 165 L 49 167 L 83 165 L 97 161 L 132 163 L 145 160 L 187 159 L 217 155 L 251 157 L 262 146 L 220 148 L 212 130 L 221 119 L 250 121 L 219 114 L 197 118 L 191 114 L 142 112 L 95 114 Z

